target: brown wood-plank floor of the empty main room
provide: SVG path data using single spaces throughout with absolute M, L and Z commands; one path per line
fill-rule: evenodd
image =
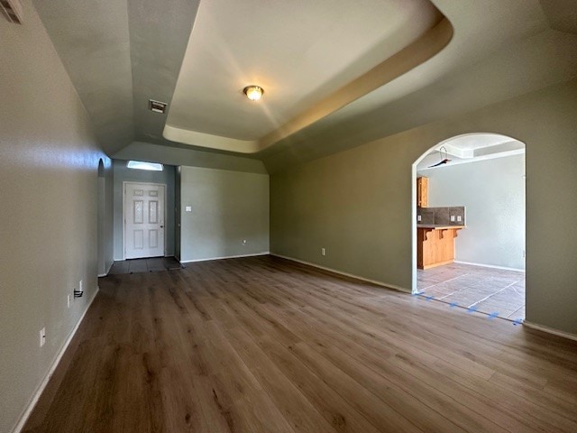
M 577 343 L 263 256 L 100 280 L 29 432 L 575 432 Z

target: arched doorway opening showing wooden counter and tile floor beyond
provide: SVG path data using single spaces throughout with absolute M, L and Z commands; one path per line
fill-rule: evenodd
M 413 164 L 413 293 L 525 318 L 525 144 L 463 134 Z

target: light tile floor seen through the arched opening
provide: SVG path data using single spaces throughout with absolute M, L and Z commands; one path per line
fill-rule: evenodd
M 452 263 L 417 270 L 417 290 L 427 299 L 495 317 L 525 318 L 525 272 Z

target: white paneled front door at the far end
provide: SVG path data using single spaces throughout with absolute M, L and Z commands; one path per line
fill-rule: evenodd
M 124 182 L 124 257 L 164 255 L 164 185 Z

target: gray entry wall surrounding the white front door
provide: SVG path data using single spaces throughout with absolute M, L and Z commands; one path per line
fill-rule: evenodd
M 166 255 L 174 255 L 175 168 L 165 165 L 162 171 L 126 168 L 127 161 L 114 160 L 114 260 L 123 260 L 123 182 L 163 183 L 166 185 Z

